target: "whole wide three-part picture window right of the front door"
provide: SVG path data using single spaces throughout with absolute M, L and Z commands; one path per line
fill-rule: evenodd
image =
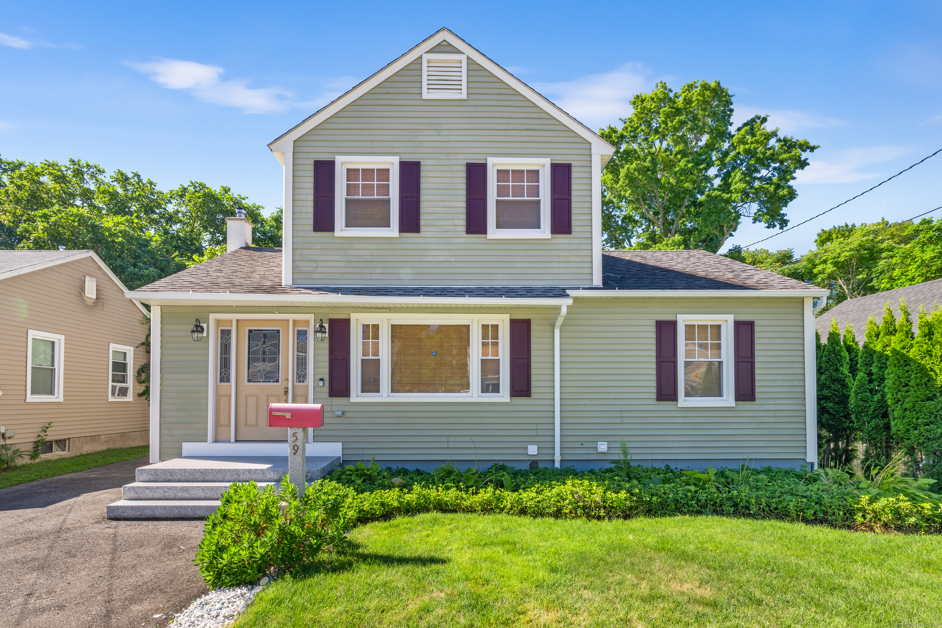
M 506 401 L 508 319 L 353 314 L 352 401 Z

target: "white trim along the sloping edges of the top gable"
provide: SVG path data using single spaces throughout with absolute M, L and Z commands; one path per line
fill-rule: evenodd
M 560 123 L 565 124 L 582 139 L 589 141 L 593 146 L 593 153 L 600 153 L 601 155 L 609 157 L 614 154 L 615 147 L 609 144 L 608 141 L 600 138 L 591 128 L 580 123 L 576 118 L 563 111 L 543 94 L 534 90 L 507 70 L 504 70 L 493 60 L 487 58 L 477 48 L 467 41 L 464 41 L 447 28 L 440 29 L 425 41 L 414 46 L 409 52 L 388 63 L 379 72 L 372 74 L 343 95 L 334 99 L 328 105 L 321 107 L 314 114 L 305 118 L 300 124 L 296 124 L 290 130 L 286 131 L 275 140 L 272 140 L 268 143 L 268 149 L 271 150 L 272 153 L 275 153 L 275 157 L 278 157 L 278 160 L 281 161 L 282 157 L 278 154 L 291 151 L 294 140 L 297 140 L 300 136 L 316 127 L 317 124 L 333 116 L 334 113 L 343 107 L 347 107 L 351 102 L 364 95 L 367 91 L 372 90 L 382 83 L 382 81 L 396 74 L 409 63 L 412 63 L 415 58 L 421 57 L 423 53 L 429 52 L 433 47 L 443 41 L 447 41 L 447 43 L 450 43 L 460 50 L 464 55 L 467 55 L 468 58 L 477 61 L 485 70 L 489 71 L 491 74 L 495 74 L 514 90 L 519 91 L 523 96 L 528 98 L 534 105 L 542 108 L 546 113 L 560 121 Z M 605 159 L 602 160 L 602 164 L 603 166 L 605 165 Z

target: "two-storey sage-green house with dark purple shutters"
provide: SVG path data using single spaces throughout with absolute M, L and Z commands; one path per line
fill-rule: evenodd
M 126 293 L 154 306 L 152 461 L 284 455 L 284 400 L 326 406 L 309 454 L 383 465 L 816 459 L 827 291 L 603 252 L 614 148 L 447 29 L 269 148 L 284 248 L 229 218 L 228 253 Z

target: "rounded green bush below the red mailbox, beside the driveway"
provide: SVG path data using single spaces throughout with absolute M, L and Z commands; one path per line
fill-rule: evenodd
M 254 482 L 235 483 L 203 528 L 194 562 L 210 588 L 252 583 L 269 572 L 310 565 L 347 538 L 338 497 L 318 488 L 287 484 L 281 494 Z

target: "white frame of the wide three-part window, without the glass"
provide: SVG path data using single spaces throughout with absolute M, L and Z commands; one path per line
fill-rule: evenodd
M 360 393 L 360 336 L 364 323 L 380 324 L 380 393 Z M 393 324 L 468 324 L 471 326 L 471 392 L 467 394 L 392 394 L 390 372 L 391 326 Z M 500 325 L 500 389 L 501 392 L 480 392 L 480 325 Z M 381 314 L 363 312 L 350 314 L 350 401 L 361 403 L 389 402 L 510 402 L 510 315 L 501 314 Z

